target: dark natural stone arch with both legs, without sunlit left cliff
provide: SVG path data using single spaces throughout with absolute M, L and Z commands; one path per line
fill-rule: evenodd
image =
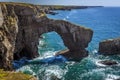
M 88 52 L 85 48 L 92 39 L 92 30 L 66 21 L 48 18 L 45 18 L 42 22 L 36 21 L 31 23 L 30 26 L 19 26 L 20 30 L 17 35 L 14 53 L 20 54 L 22 50 L 27 50 L 29 52 L 25 55 L 29 55 L 30 59 L 35 58 L 39 55 L 38 45 L 40 35 L 48 32 L 56 32 L 63 40 L 64 45 L 69 49 L 68 52 L 62 54 L 63 56 L 73 60 L 79 60 L 87 56 Z

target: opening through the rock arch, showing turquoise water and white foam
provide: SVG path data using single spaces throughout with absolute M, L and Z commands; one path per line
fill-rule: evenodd
M 65 50 L 67 47 L 61 36 L 55 32 L 43 33 L 39 38 L 38 53 L 40 56 L 54 55 L 56 52 Z

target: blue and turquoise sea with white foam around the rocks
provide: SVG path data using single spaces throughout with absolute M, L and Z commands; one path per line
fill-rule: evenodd
M 52 19 L 61 19 L 91 28 L 94 36 L 87 48 L 89 56 L 80 62 L 55 64 L 29 64 L 16 71 L 35 75 L 39 80 L 115 80 L 120 78 L 120 65 L 104 66 L 97 63 L 100 60 L 115 60 L 120 62 L 120 56 L 102 56 L 97 54 L 98 43 L 101 40 L 120 37 L 120 8 L 99 7 L 57 11 L 57 15 L 48 15 Z M 39 41 L 40 60 L 53 56 L 57 51 L 66 47 L 56 32 L 41 35 Z M 55 79 L 57 78 L 57 79 Z

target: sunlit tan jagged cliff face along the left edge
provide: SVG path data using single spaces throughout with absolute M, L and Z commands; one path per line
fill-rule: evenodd
M 18 32 L 14 8 L 0 5 L 0 68 L 12 69 L 13 53 Z

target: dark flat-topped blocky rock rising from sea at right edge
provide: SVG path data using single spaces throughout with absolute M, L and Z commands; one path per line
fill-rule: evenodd
M 99 53 L 104 55 L 120 54 L 120 38 L 100 42 Z

